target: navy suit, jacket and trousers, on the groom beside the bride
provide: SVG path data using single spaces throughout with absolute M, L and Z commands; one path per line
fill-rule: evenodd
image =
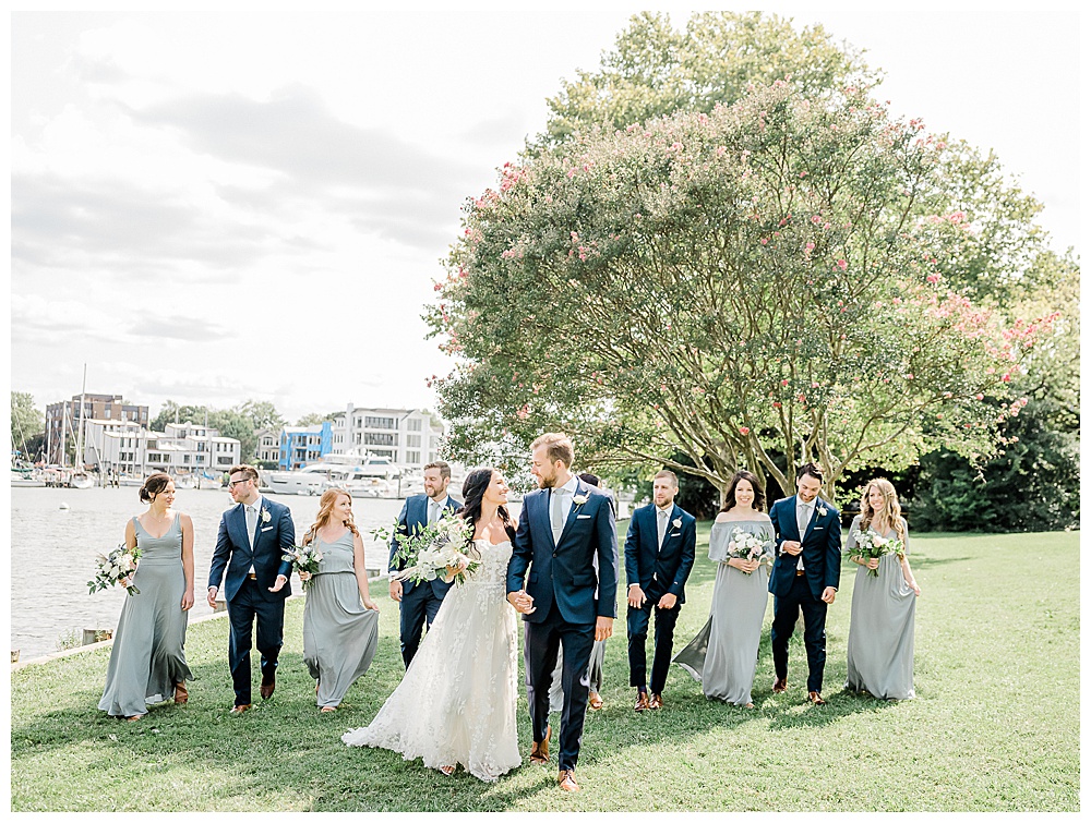
M 554 544 L 549 510 L 551 492 L 538 489 L 523 499 L 519 529 L 507 566 L 507 591 L 519 591 L 526 578 L 527 594 L 535 600 L 535 612 L 523 619 L 527 701 L 536 742 L 546 738 L 549 689 L 559 644 L 562 647 L 564 709 L 559 764 L 561 771 L 566 771 L 574 770 L 579 758 L 595 624 L 600 616 L 612 618 L 618 614 L 618 535 L 610 498 L 577 480 L 572 508 Z M 576 503 L 583 497 L 585 501 Z M 596 556 L 597 574 L 591 562 Z

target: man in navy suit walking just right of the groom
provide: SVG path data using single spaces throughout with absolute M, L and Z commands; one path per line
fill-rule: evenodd
M 628 685 L 637 688 L 637 712 L 663 707 L 674 625 L 685 603 L 685 581 L 697 555 L 697 520 L 674 505 L 679 493 L 678 475 L 664 469 L 656 475 L 651 491 L 655 503 L 633 512 L 625 538 Z M 646 644 L 652 606 L 656 610 L 656 651 L 649 700 Z

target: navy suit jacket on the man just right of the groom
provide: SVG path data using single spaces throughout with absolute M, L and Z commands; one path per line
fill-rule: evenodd
M 675 527 L 680 519 L 682 522 Z M 679 603 L 685 603 L 685 581 L 696 557 L 697 519 L 688 511 L 676 504 L 671 509 L 661 549 L 656 505 L 633 512 L 625 537 L 625 578 L 630 585 L 639 583 L 645 594 L 655 594 L 657 602 L 663 594 L 673 594 Z

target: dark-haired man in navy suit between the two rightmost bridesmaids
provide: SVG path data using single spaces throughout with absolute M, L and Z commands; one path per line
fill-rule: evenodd
M 841 516 L 818 496 L 822 469 L 801 467 L 796 494 L 777 500 L 769 519 L 777 532 L 777 559 L 769 574 L 772 592 L 772 664 L 775 692 L 788 688 L 788 641 L 803 612 L 803 645 L 807 650 L 807 700 L 825 705 L 822 679 L 826 668 L 826 607 L 841 580 Z M 802 536 L 801 536 L 802 535 Z

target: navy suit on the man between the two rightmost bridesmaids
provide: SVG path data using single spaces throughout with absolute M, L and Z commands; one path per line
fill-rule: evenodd
M 838 588 L 841 580 L 841 516 L 832 505 L 816 497 L 811 522 L 800 537 L 795 520 L 795 496 L 777 500 L 769 509 L 769 519 L 777 532 L 777 559 L 769 574 L 772 592 L 772 664 L 777 677 L 788 678 L 788 641 L 803 612 L 803 644 L 807 650 L 807 691 L 822 691 L 826 667 L 826 604 L 822 600 L 827 586 Z M 826 513 L 819 512 L 825 509 Z M 781 553 L 786 540 L 799 541 L 803 550 L 792 556 Z M 803 558 L 803 573 L 798 572 Z

